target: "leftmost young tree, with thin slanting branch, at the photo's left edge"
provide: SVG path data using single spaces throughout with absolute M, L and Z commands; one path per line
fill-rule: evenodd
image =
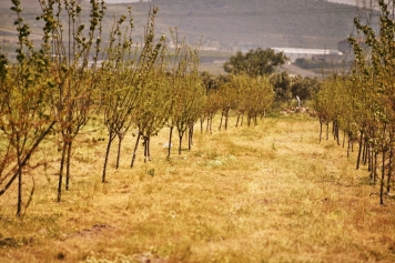
M 12 3 L 11 9 L 17 13 L 19 47 L 17 64 L 7 67 L 4 55 L 1 55 L 0 63 L 0 195 L 18 179 L 17 216 L 20 216 L 23 204 L 23 170 L 52 131 L 55 120 L 52 118 L 53 79 L 50 78 L 49 58 L 43 50 L 36 51 L 29 40 L 30 29 L 21 18 L 20 1 L 13 0 Z

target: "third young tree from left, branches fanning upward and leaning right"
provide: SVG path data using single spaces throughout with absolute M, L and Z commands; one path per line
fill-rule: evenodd
M 130 18 L 129 28 L 125 29 L 126 33 L 130 32 L 129 34 L 123 33 L 121 28 L 125 17 L 121 17 L 117 21 L 110 34 L 110 43 L 105 51 L 109 59 L 102 68 L 104 79 L 101 83 L 101 108 L 104 111 L 104 124 L 109 132 L 102 182 L 105 182 L 111 144 L 118 136 L 117 160 L 119 160 L 122 139 L 132 124 L 132 111 L 138 101 L 139 91 L 144 88 L 145 81 L 154 69 L 158 55 L 164 47 L 164 36 L 156 43 L 154 39 L 154 20 L 158 10 L 156 7 L 150 10 L 141 49 L 136 47 L 132 52 L 131 33 L 134 27 L 132 18 Z

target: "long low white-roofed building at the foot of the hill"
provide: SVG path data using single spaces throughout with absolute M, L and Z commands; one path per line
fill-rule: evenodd
M 343 53 L 338 50 L 327 49 L 296 49 L 296 48 L 272 48 L 275 52 L 284 52 L 291 62 L 296 59 L 322 60 L 326 62 L 337 62 L 343 58 Z

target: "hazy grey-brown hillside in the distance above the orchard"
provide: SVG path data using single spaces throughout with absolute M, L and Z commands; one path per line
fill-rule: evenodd
M 22 1 L 22 8 L 33 33 L 40 34 L 42 26 L 34 20 L 39 13 L 37 2 Z M 126 6 L 133 7 L 136 28 L 142 29 L 150 4 L 160 8 L 158 34 L 178 27 L 179 34 L 190 43 L 201 41 L 205 49 L 231 52 L 257 47 L 336 49 L 337 42 L 353 32 L 356 13 L 353 6 L 323 0 L 152 0 L 109 4 L 104 33 L 111 29 L 112 16 L 125 13 Z M 0 2 L 0 30 L 14 29 L 10 7 L 10 0 Z M 81 22 L 88 22 L 88 13 Z

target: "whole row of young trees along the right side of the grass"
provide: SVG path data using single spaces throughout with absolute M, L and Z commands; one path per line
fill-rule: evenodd
M 364 34 L 364 44 L 348 37 L 354 65 L 347 77 L 323 81 L 315 108 L 321 127 L 333 122 L 338 143 L 340 131 L 348 136 L 348 149 L 353 141 L 358 142 L 356 168 L 361 163 L 368 165 L 372 183 L 379 183 L 379 202 L 384 204 L 384 196 L 391 195 L 395 170 L 395 23 L 388 4 L 383 0 L 377 3 L 378 32 L 358 17 L 354 19 L 358 33 Z

